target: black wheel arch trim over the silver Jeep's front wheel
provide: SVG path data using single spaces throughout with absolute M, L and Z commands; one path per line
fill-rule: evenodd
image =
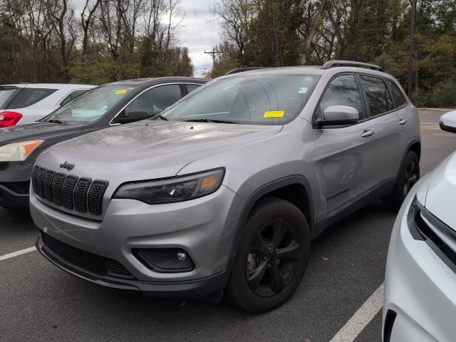
M 309 224 L 310 234 L 312 236 L 312 231 L 315 229 L 315 220 L 314 220 L 314 201 L 312 200 L 312 190 L 309 180 L 306 177 L 301 175 L 291 175 L 287 177 L 280 178 L 278 180 L 273 180 L 257 189 L 252 195 L 247 199 L 246 204 L 244 204 L 244 208 L 242 209 L 242 214 L 237 221 L 236 233 L 234 234 L 234 239 L 232 242 L 231 252 L 229 253 L 229 261 L 227 264 L 227 271 L 231 271 L 232 264 L 234 261 L 234 257 L 237 254 L 237 249 L 239 247 L 239 242 L 244 235 L 244 227 L 247 223 L 247 219 L 249 217 L 250 212 L 252 211 L 255 204 L 257 204 L 258 200 L 265 195 L 273 192 L 274 190 L 279 190 L 282 187 L 286 187 L 288 185 L 299 184 L 304 187 L 306 190 L 307 200 L 309 203 L 309 215 L 310 217 L 306 217 L 307 224 Z

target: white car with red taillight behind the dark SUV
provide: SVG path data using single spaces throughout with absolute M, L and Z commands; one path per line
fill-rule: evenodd
M 94 87 L 58 83 L 0 86 L 0 128 L 33 123 Z

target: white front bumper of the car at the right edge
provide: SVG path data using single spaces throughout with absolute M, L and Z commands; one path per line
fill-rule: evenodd
M 427 242 L 413 239 L 407 222 L 413 197 L 408 199 L 388 251 L 383 333 L 390 330 L 390 342 L 455 341 L 456 274 Z M 389 327 L 388 311 L 395 313 Z

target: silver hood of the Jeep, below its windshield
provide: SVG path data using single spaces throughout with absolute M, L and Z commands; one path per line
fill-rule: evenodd
M 281 128 L 146 120 L 61 142 L 36 163 L 61 170 L 59 165 L 68 162 L 75 165 L 74 175 L 118 184 L 151 180 L 172 177 L 190 162 L 266 138 Z

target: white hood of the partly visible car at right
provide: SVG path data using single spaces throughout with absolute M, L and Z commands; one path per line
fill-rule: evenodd
M 427 187 L 425 208 L 456 230 L 456 152 L 436 167 Z

